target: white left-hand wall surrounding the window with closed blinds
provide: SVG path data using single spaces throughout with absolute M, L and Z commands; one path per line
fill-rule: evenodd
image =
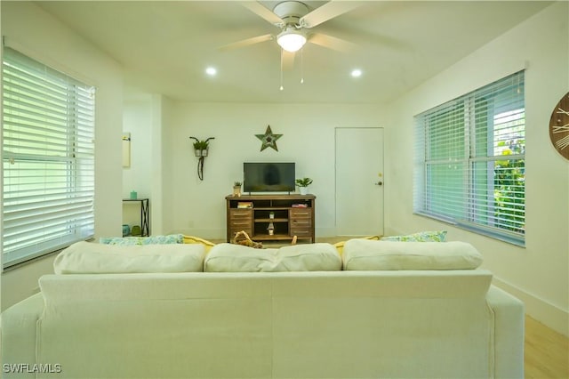
M 95 49 L 31 2 L 2 2 L 2 35 L 6 43 L 72 77 L 95 85 L 95 237 L 117 235 L 121 228 L 120 183 L 122 74 L 116 61 Z M 52 272 L 47 257 L 2 275 L 2 309 L 28 297 L 37 278 Z

